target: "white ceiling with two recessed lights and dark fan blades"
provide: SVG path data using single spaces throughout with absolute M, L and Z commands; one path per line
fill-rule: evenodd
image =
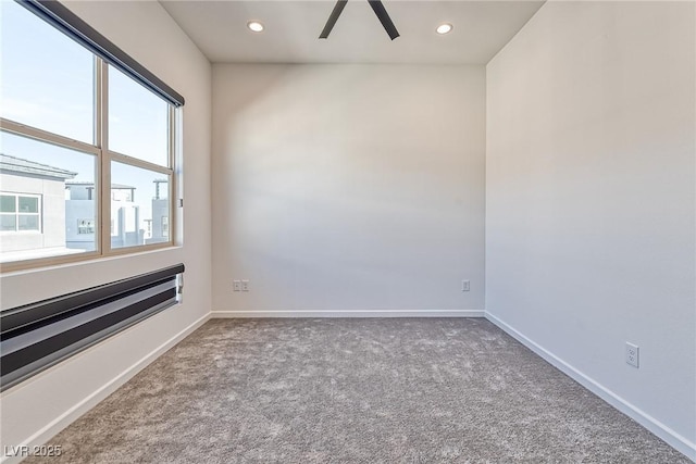
M 366 0 L 348 1 L 320 40 L 335 2 L 160 0 L 211 62 L 485 64 L 543 1 L 383 0 L 401 34 L 389 40 Z M 249 21 L 265 25 L 251 33 Z M 455 27 L 440 36 L 438 24 Z

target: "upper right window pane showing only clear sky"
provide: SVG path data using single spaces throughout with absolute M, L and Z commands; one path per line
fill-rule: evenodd
M 109 150 L 169 166 L 169 106 L 109 66 Z

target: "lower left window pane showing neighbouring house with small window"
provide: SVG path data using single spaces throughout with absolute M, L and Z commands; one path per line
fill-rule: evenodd
M 20 204 L 12 220 L 2 214 L 3 230 L 12 226 L 17 233 L 0 235 L 0 261 L 96 250 L 97 234 L 77 229 L 77 218 L 97 220 L 96 195 L 90 193 L 96 158 L 1 130 L 0 146 L 3 196 L 16 193 Z M 40 234 L 23 234 L 26 230 Z

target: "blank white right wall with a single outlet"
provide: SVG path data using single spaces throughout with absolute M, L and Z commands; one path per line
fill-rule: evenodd
M 549 2 L 488 63 L 486 308 L 696 459 L 694 8 Z

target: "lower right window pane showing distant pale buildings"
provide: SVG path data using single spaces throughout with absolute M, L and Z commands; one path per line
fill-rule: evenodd
M 169 177 L 111 163 L 112 248 L 170 241 Z

